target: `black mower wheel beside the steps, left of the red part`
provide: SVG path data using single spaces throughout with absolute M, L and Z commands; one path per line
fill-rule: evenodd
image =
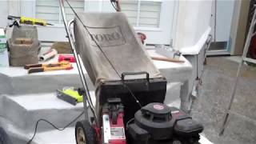
M 75 124 L 75 141 L 77 144 L 95 144 L 95 131 L 89 121 L 82 120 Z

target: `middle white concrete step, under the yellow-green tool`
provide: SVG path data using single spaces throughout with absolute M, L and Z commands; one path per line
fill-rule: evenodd
M 90 94 L 94 98 L 94 92 L 91 91 Z M 58 127 L 66 126 L 83 110 L 82 102 L 73 106 L 57 98 L 56 94 L 27 94 L 16 97 L 5 95 L 1 99 L 0 114 L 2 117 L 27 131 L 33 131 L 40 118 L 53 122 Z M 95 98 L 93 101 L 95 102 Z M 39 131 L 52 129 L 53 127 L 45 122 L 39 123 Z

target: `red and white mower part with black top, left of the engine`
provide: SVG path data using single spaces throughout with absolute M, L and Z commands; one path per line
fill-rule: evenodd
M 102 108 L 102 143 L 126 144 L 123 108 L 120 98 L 108 98 Z

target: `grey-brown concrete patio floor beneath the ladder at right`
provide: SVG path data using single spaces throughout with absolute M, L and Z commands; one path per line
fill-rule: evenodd
M 207 58 L 202 91 L 194 102 L 192 116 L 202 122 L 206 138 L 214 144 L 255 144 L 256 67 L 243 66 L 229 125 L 224 135 L 218 136 L 238 68 L 238 62 L 232 59 L 237 58 Z

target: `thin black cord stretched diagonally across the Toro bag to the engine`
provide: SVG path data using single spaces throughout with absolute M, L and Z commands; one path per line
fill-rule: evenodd
M 90 28 L 90 26 L 86 26 L 81 18 L 78 16 L 78 14 L 75 12 L 74 8 L 70 5 L 70 2 L 68 2 L 67 0 L 65 0 L 66 3 L 70 6 L 70 9 L 74 12 L 74 15 L 78 18 L 79 22 L 82 23 L 82 26 L 86 29 L 87 33 L 90 35 L 90 38 L 95 42 L 96 46 L 98 47 L 98 49 L 102 52 L 102 54 L 104 55 L 104 57 L 106 58 L 106 60 L 110 63 L 110 66 L 113 68 L 113 70 L 115 71 L 116 74 L 118 74 L 119 78 L 122 78 L 121 75 L 118 73 L 118 70 L 115 69 L 113 63 L 110 61 L 110 58 L 108 58 L 105 54 L 105 52 L 102 50 L 102 47 L 99 46 L 98 42 L 95 40 L 95 38 L 93 37 L 93 35 L 90 33 L 90 31 L 88 30 L 88 27 Z M 141 103 L 138 101 L 138 98 L 135 97 L 134 93 L 132 92 L 132 90 L 130 90 L 129 86 L 127 86 L 124 82 L 122 82 L 122 85 L 126 87 L 126 89 L 129 91 L 129 93 L 132 95 L 132 97 L 134 98 L 135 102 L 138 103 L 138 106 L 140 106 L 142 108 Z

